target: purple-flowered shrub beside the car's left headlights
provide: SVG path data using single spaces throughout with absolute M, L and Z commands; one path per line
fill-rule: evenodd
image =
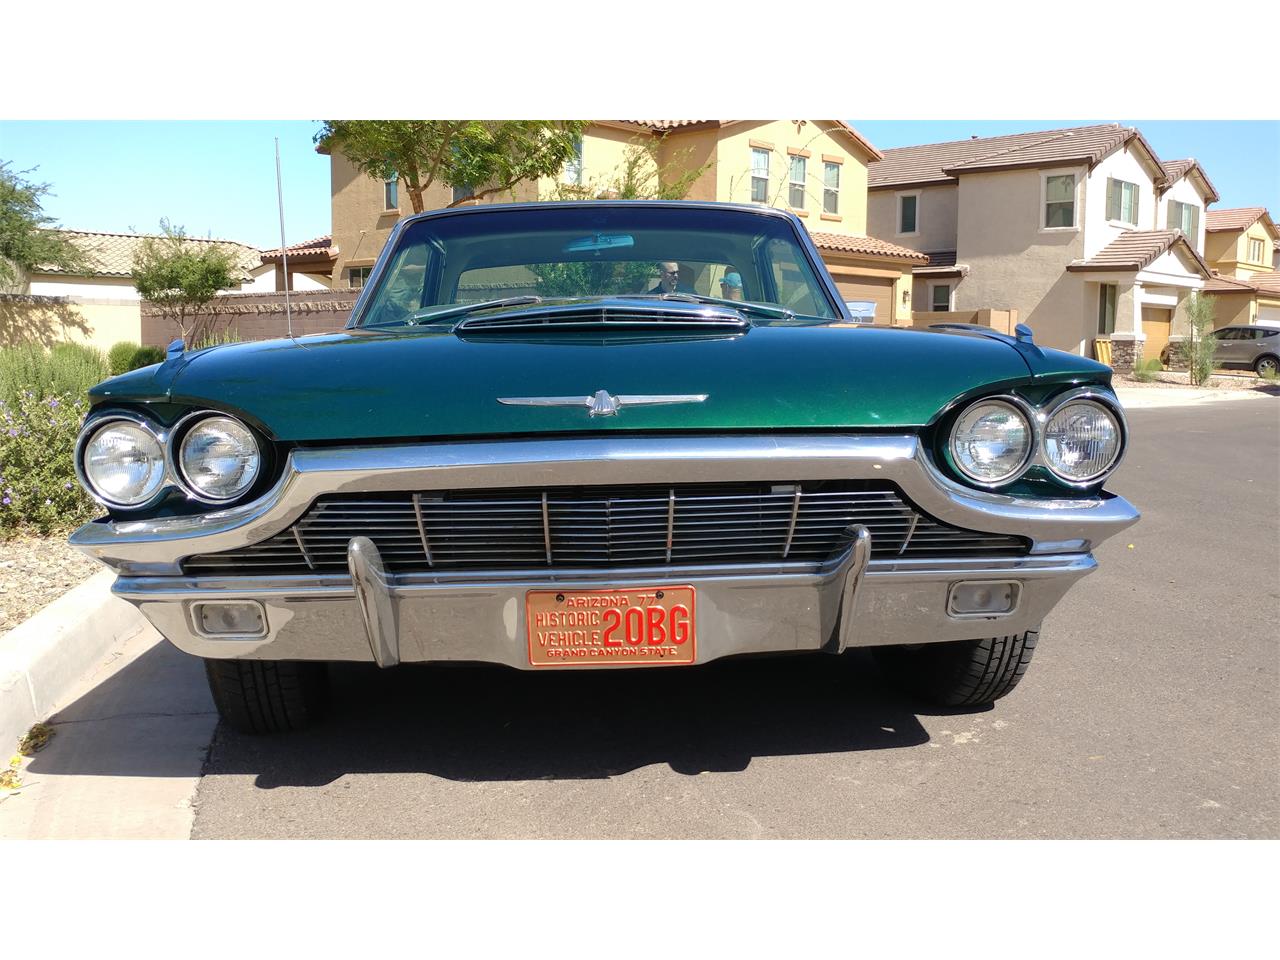
M 73 465 L 87 410 L 82 393 L 0 399 L 0 536 L 63 531 L 100 512 Z

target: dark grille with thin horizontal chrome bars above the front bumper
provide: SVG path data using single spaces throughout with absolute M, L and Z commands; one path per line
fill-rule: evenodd
M 778 563 L 828 559 L 864 524 L 872 557 L 1016 556 L 1020 538 L 946 526 L 887 484 L 690 484 L 330 495 L 251 547 L 191 557 L 193 575 L 347 568 L 367 536 L 393 571 Z

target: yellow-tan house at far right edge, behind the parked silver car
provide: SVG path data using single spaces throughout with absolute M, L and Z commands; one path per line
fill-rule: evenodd
M 1280 325 L 1280 230 L 1267 209 L 1211 210 L 1204 229 L 1204 259 L 1216 271 L 1204 287 L 1213 294 L 1215 326 Z

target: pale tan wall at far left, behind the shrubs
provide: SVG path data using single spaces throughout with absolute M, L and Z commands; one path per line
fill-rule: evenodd
M 61 340 L 110 349 L 120 340 L 141 343 L 138 301 L 37 297 L 0 300 L 0 344 Z

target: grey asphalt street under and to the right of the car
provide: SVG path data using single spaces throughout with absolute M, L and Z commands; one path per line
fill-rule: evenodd
M 925 708 L 865 652 L 596 675 L 342 666 L 314 730 L 218 727 L 192 836 L 1280 837 L 1280 399 L 1130 425 L 1108 485 L 1143 518 L 1100 548 L 992 709 Z M 198 662 L 166 644 L 116 680 L 169 664 L 196 690 L 173 709 L 207 717 Z M 37 778 L 157 773 L 145 750 L 46 754 Z

